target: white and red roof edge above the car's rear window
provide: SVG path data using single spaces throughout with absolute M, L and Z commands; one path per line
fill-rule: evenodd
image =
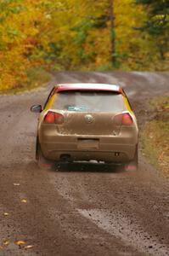
M 115 84 L 58 84 L 56 86 L 56 91 L 63 90 L 106 90 L 106 91 L 115 91 L 122 92 L 121 86 Z

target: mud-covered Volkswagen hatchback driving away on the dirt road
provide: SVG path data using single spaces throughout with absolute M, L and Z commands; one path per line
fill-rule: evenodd
M 112 84 L 58 84 L 37 128 L 39 166 L 97 160 L 138 168 L 138 125 L 124 90 Z

